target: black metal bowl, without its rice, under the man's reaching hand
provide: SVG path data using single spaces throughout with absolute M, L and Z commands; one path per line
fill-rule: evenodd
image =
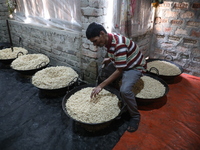
M 118 106 L 120 108 L 120 113 L 118 114 L 118 116 L 116 116 L 114 119 L 111 119 L 109 121 L 106 121 L 106 122 L 101 122 L 101 123 L 86 123 L 86 122 L 82 122 L 82 121 L 79 121 L 79 120 L 76 120 L 74 118 L 72 118 L 68 112 L 67 112 L 67 109 L 65 107 L 65 104 L 67 103 L 67 100 L 70 98 L 71 95 L 73 95 L 74 93 L 76 93 L 77 91 L 83 89 L 83 88 L 87 88 L 87 87 L 95 87 L 95 85 L 90 85 L 90 84 L 85 84 L 85 85 L 81 85 L 81 86 L 77 86 L 75 87 L 74 89 L 72 89 L 71 91 L 69 91 L 63 98 L 62 100 L 62 108 L 63 108 L 63 111 L 64 113 L 69 117 L 71 118 L 72 120 L 74 120 L 75 122 L 77 122 L 78 124 L 80 124 L 81 126 L 83 126 L 86 130 L 88 131 L 96 131 L 96 130 L 100 130 L 100 129 L 103 129 L 105 127 L 107 127 L 112 121 L 114 121 L 116 118 L 118 118 L 119 116 L 121 116 L 122 112 L 123 112 L 123 109 L 125 108 L 125 106 L 123 106 L 123 102 L 122 102 L 122 98 L 120 96 L 120 93 L 118 90 L 112 88 L 112 87 L 105 87 L 104 89 L 105 90 L 108 90 L 109 92 L 111 92 L 112 94 L 115 94 L 118 99 L 119 99 L 119 103 L 118 103 Z

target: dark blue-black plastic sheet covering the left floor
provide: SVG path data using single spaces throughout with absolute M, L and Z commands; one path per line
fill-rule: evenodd
M 127 128 L 127 116 L 88 132 L 62 110 L 62 96 L 47 97 L 0 64 L 1 150 L 111 150 Z

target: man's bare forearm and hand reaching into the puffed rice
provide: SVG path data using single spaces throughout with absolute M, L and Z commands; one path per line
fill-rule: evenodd
M 95 87 L 92 90 L 92 93 L 90 95 L 90 97 L 92 98 L 93 96 L 95 97 L 99 92 L 101 92 L 101 90 L 109 85 L 110 83 L 112 83 L 115 79 L 117 79 L 123 72 L 124 68 L 117 68 L 115 70 L 115 72 L 113 72 L 113 74 L 111 74 L 106 80 L 104 80 L 102 83 L 100 83 L 97 87 Z

